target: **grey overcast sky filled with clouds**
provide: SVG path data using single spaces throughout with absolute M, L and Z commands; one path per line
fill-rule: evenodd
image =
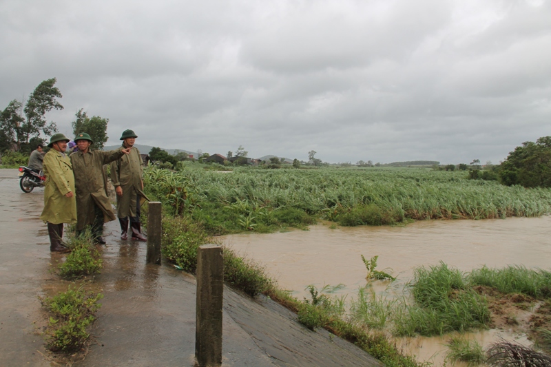
M 497 163 L 551 135 L 550 3 L 0 0 L 0 109 L 55 77 L 107 145 Z

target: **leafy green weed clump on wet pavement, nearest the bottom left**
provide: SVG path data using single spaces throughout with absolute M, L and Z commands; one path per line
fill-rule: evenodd
M 87 293 L 82 286 L 41 300 L 50 313 L 46 344 L 52 352 L 73 353 L 81 350 L 90 338 L 88 328 L 96 320 L 101 293 Z

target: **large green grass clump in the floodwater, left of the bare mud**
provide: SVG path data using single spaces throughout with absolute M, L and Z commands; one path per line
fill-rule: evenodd
M 463 274 L 443 262 L 415 269 L 412 294 L 415 304 L 404 302 L 397 310 L 397 335 L 443 335 L 490 324 L 486 297 L 468 289 Z

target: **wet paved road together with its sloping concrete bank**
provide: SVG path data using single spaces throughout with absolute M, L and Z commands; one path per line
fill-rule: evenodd
M 23 193 L 16 169 L 0 169 L 0 366 L 51 366 L 39 335 L 39 295 L 65 291 L 52 268 L 39 220 L 43 189 Z M 101 274 L 87 288 L 103 293 L 89 353 L 73 366 L 194 366 L 196 282 L 169 264 L 146 264 L 145 242 L 119 239 L 105 224 Z M 50 265 L 52 264 L 52 265 Z M 326 331 L 311 332 L 271 300 L 225 288 L 222 366 L 377 366 L 371 356 Z

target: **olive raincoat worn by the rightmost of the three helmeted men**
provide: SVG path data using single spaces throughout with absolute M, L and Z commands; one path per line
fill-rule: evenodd
M 147 200 L 147 196 L 142 191 L 142 178 L 143 160 L 137 148 L 133 147 L 129 154 L 111 163 L 111 181 L 114 187 L 120 186 L 123 189 L 123 196 L 116 196 L 118 218 L 137 216 L 138 195 Z

